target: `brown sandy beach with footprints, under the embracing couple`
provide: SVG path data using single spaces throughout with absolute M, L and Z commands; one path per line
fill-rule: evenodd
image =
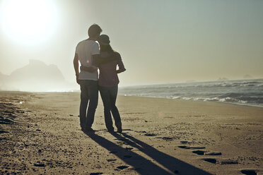
M 79 93 L 0 92 L 0 174 L 263 174 L 263 108 L 119 96 L 124 132 L 79 126 Z M 195 153 L 194 153 L 195 152 Z

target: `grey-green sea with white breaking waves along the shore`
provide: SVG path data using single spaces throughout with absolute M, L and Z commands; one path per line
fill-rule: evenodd
M 201 100 L 263 107 L 263 79 L 119 87 L 119 95 Z

